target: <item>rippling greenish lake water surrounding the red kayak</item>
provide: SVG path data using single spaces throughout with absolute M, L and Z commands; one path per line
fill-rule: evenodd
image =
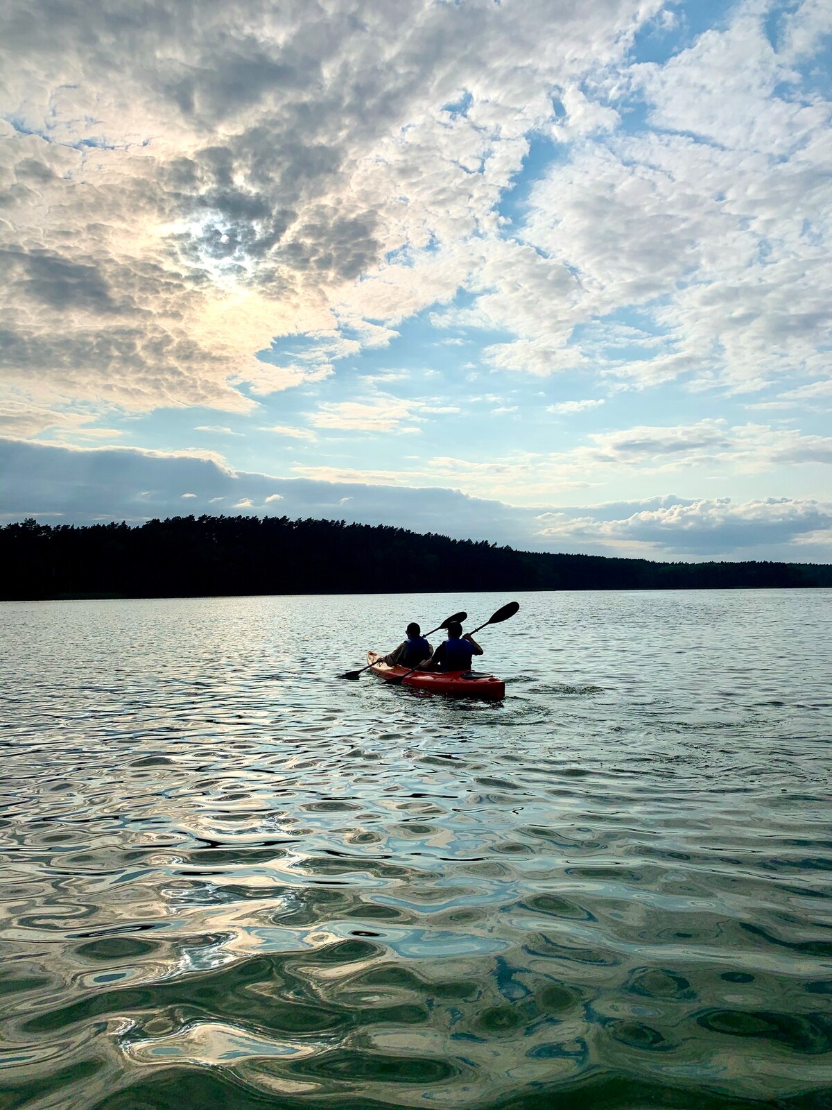
M 832 1107 L 830 596 L 0 606 L 0 1106 Z

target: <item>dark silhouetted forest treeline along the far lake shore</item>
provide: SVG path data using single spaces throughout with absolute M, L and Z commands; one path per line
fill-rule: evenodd
M 0 528 L 4 599 L 402 591 L 830 586 L 832 566 L 549 555 L 389 525 L 285 516 Z

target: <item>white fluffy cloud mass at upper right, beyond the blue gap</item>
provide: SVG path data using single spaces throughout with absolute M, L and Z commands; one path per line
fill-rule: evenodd
M 823 367 L 832 105 L 803 93 L 795 69 L 818 49 L 811 8 L 798 21 L 815 30 L 784 34 L 780 53 L 762 9 L 739 4 L 724 30 L 666 63 L 601 75 L 599 92 L 647 109 L 636 133 L 610 119 L 608 138 L 575 141 L 555 125 L 571 145 L 531 188 L 517 229 L 534 256 L 507 253 L 506 286 L 463 314 L 516 332 L 489 349 L 493 364 L 545 375 L 591 356 L 641 386 L 687 377 L 734 390 Z M 596 326 L 633 309 L 649 324 L 638 347 L 619 335 L 599 350 Z

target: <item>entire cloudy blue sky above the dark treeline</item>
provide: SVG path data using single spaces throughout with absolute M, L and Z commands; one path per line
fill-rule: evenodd
M 7 0 L 0 522 L 832 562 L 832 4 Z

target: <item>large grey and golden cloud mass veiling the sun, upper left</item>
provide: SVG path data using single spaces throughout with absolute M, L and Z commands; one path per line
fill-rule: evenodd
M 335 0 L 322 21 L 233 0 L 172 20 L 150 0 L 136 22 L 126 0 L 12 0 L 6 372 L 134 412 L 243 413 L 239 386 L 310 380 L 262 369 L 274 336 L 384 345 L 465 281 L 457 244 L 496 232 L 552 85 L 576 128 L 609 117 L 580 81 L 660 6 Z

